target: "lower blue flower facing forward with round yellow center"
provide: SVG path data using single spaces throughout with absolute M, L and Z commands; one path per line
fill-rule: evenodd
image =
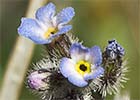
M 98 46 L 86 48 L 74 43 L 70 48 L 71 58 L 62 58 L 60 72 L 62 75 L 78 87 L 88 85 L 88 80 L 95 79 L 104 73 L 100 66 L 102 53 Z

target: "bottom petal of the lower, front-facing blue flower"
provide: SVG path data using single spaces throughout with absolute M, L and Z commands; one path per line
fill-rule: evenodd
M 88 85 L 88 82 L 84 80 L 84 78 L 79 75 L 78 73 L 77 74 L 74 74 L 74 75 L 70 75 L 68 77 L 68 80 L 73 84 L 73 85 L 76 85 L 78 87 L 84 87 L 86 85 Z

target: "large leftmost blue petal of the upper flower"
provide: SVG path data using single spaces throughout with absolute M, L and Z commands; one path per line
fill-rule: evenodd
M 18 27 L 18 33 L 25 36 L 37 44 L 45 44 L 48 40 L 42 38 L 44 30 L 39 23 L 31 18 L 22 18 L 21 24 Z

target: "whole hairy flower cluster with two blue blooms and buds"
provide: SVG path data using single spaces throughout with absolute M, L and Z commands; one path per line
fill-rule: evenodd
M 45 58 L 27 76 L 28 87 L 43 100 L 103 99 L 108 88 L 114 91 L 124 79 L 123 47 L 116 40 L 103 53 L 99 46 L 83 46 L 69 33 L 72 25 L 67 24 L 74 15 L 72 7 L 55 14 L 55 5 L 49 3 L 34 19 L 22 18 L 18 27 L 20 35 L 46 48 Z

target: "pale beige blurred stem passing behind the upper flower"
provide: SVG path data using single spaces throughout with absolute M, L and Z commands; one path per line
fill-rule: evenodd
M 26 17 L 33 18 L 35 11 L 47 0 L 30 0 Z M 0 100 L 18 100 L 24 76 L 32 58 L 35 45 L 18 37 L 7 63 L 7 70 L 2 83 Z

